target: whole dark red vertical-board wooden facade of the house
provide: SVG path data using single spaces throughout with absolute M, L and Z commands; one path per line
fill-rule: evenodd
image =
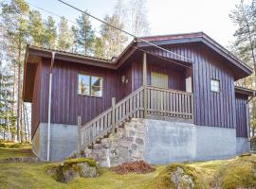
M 185 91 L 186 72 L 192 68 L 194 124 L 223 128 L 237 127 L 237 136 L 247 137 L 245 131 L 247 120 L 244 120 L 244 115 L 243 120 L 238 116 L 238 113 L 245 110 L 236 109 L 241 107 L 244 101 L 242 103 L 242 99 L 235 98 L 234 75 L 237 73 L 234 73 L 228 60 L 203 43 L 168 44 L 164 45 L 164 48 L 189 58 L 192 63 L 190 67 L 184 67 L 148 55 L 148 84 L 151 84 L 151 72 L 163 73 L 169 77 L 170 89 Z M 145 47 L 144 50 L 161 57 L 169 56 L 154 47 Z M 49 65 L 50 59 L 44 58 L 36 67 L 32 95 L 32 134 L 40 122 L 47 122 Z M 102 97 L 77 94 L 80 73 L 103 77 Z M 121 82 L 122 76 L 128 78 L 128 83 Z M 220 80 L 220 93 L 210 91 L 211 78 Z M 119 101 L 142 86 L 142 53 L 136 52 L 119 69 L 57 59 L 54 62 L 52 79 L 51 122 L 75 125 L 77 116 L 82 115 L 84 124 L 109 108 L 113 96 Z

